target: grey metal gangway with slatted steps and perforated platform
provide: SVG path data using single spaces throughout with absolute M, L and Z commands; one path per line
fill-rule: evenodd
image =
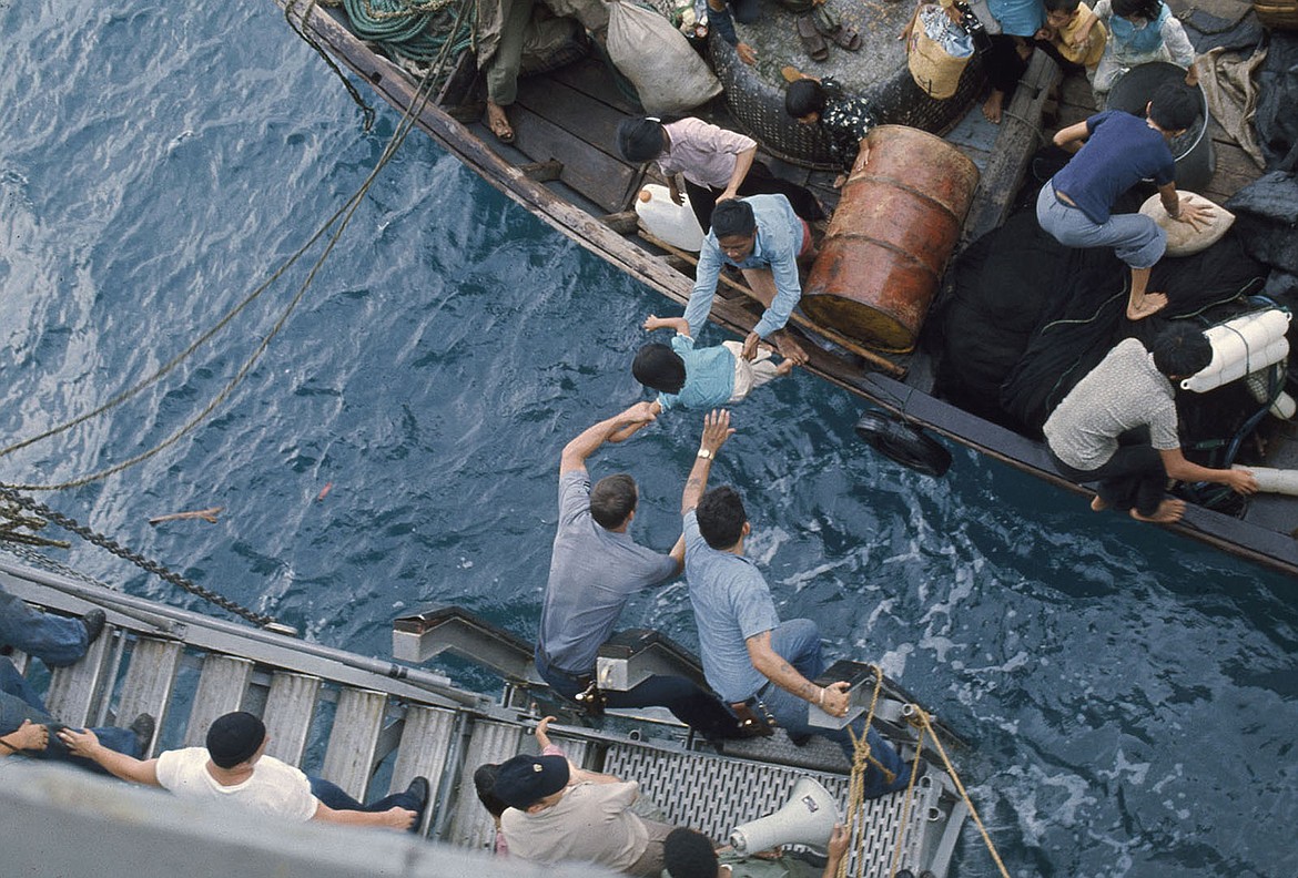
M 535 751 L 533 702 L 546 702 L 544 687 L 528 690 L 526 681 L 515 680 L 506 681 L 498 696 L 470 693 L 417 667 L 174 610 L 58 572 L 34 552 L 21 554 L 25 560 L 0 552 L 0 587 L 57 612 L 82 615 L 97 606 L 108 613 L 104 635 L 75 665 L 51 673 L 39 661 L 12 656 L 61 721 L 125 725 L 148 712 L 158 721 L 149 748 L 157 753 L 201 746 L 212 720 L 247 709 L 266 724 L 267 753 L 337 783 L 358 800 L 427 777 L 432 807 L 421 835 L 491 848 L 495 827 L 478 801 L 472 772 Z M 881 707 L 880 716 L 900 716 L 897 708 Z M 693 742 L 679 724 L 623 716 L 615 724 L 623 730 L 601 730 L 584 726 L 563 706 L 553 712 L 561 724 L 552 726 L 552 738 L 569 759 L 639 781 L 662 818 L 711 838 L 726 839 L 737 824 L 778 809 L 803 776 L 820 781 L 846 813 L 846 761 L 826 742 L 796 748 L 787 738 L 772 738 L 718 753 Z M 880 729 L 903 753 L 914 753 L 914 729 Z M 940 763 L 931 751 L 928 757 Z M 910 803 L 898 792 L 864 808 L 866 825 L 875 827 L 862 842 L 866 875 L 888 874 L 898 838 L 902 866 L 915 874 L 946 874 L 966 809 L 945 773 L 931 765 Z

